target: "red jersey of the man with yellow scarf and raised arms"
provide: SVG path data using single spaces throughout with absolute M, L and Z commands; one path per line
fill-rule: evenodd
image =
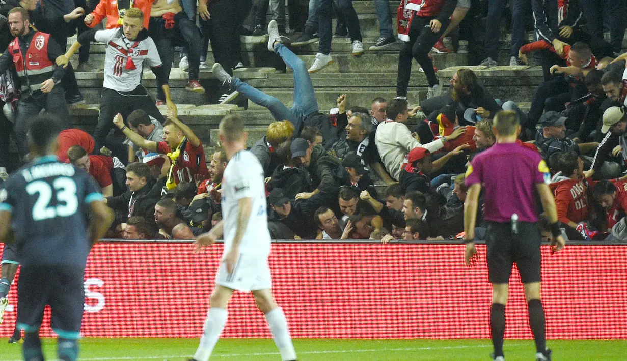
M 195 184 L 196 175 L 203 180 L 208 178 L 209 170 L 204 158 L 203 142 L 194 147 L 189 140 L 184 140 L 179 146 L 179 151 L 179 156 L 172 168 L 174 183 L 179 184 L 182 181 L 188 181 Z M 162 141 L 157 143 L 157 152 L 167 155 L 172 152 L 172 149 L 165 141 Z

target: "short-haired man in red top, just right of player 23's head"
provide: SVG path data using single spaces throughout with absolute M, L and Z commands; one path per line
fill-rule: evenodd
M 78 145 L 71 147 L 66 156 L 76 168 L 87 171 L 98 182 L 103 196 L 117 196 L 126 191 L 126 170 L 118 158 L 88 155 Z

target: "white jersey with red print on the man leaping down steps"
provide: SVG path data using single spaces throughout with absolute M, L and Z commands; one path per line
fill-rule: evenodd
M 131 91 L 142 81 L 142 68 L 147 60 L 149 66 L 161 66 L 157 47 L 150 36 L 135 41 L 124 36 L 122 28 L 96 31 L 94 38 L 107 44 L 105 56 L 105 81 L 103 86 L 117 91 Z

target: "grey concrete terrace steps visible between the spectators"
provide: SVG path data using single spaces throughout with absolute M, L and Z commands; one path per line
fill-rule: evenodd
M 364 106 L 369 108 L 371 100 L 376 96 L 392 99 L 396 96 L 396 71 L 398 67 L 398 52 L 401 43 L 398 42 L 382 51 L 369 51 L 379 37 L 379 26 L 372 0 L 354 0 L 354 7 L 359 14 L 359 20 L 364 36 L 366 53 L 356 58 L 352 56 L 352 46 L 348 38 L 334 38 L 332 41 L 332 56 L 335 63 L 320 73 L 312 74 L 312 83 L 316 91 L 320 111 L 327 112 L 335 107 L 335 99 L 342 93 L 348 94 L 347 106 Z M 398 0 L 389 1 L 393 26 L 396 28 L 396 8 Z M 269 18 L 268 18 L 269 19 Z M 292 35 L 292 39 L 297 34 Z M 73 40 L 70 40 L 70 44 Z M 235 76 L 246 81 L 251 86 L 276 96 L 287 106 L 293 103 L 293 77 L 290 69 L 285 69 L 281 59 L 266 49 L 267 36 L 242 36 L 243 60 L 249 68 L 238 69 Z M 508 53 L 509 36 L 503 36 L 502 52 Z M 68 46 L 70 46 L 68 44 Z M 314 61 L 318 43 L 292 48 L 309 66 Z M 103 67 L 105 46 L 92 44 L 90 63 Z M 78 56 L 73 57 L 75 66 Z M 467 54 L 433 54 L 434 64 L 443 85 L 448 87 L 448 80 L 460 66 L 468 64 Z M 502 60 L 507 56 L 502 56 Z M 175 56 L 177 66 L 179 56 Z M 213 54 L 209 51 L 207 57 L 209 68 L 213 64 Z M 472 67 L 485 86 L 497 98 L 513 99 L 518 102 L 529 102 L 535 87 L 542 81 L 542 71 L 533 66 L 498 66 L 485 69 Z M 423 73 L 418 71 L 419 65 L 414 61 L 411 83 L 409 85 L 409 103 L 419 103 L 426 97 L 427 83 Z M 85 104 L 71 107 L 71 114 L 75 118 L 75 125 L 85 130 L 92 130 L 98 118 L 98 103 L 102 89 L 103 73 L 76 73 Z M 218 81 L 210 69 L 201 70 L 201 83 L 206 88 L 206 94 L 194 94 L 184 89 L 187 83 L 187 73 L 173 68 L 170 77 L 172 97 L 179 104 L 181 119 L 185 121 L 208 147 L 215 146 L 215 133 L 219 120 L 226 114 L 238 113 L 246 119 L 249 129 L 249 141 L 254 143 L 265 133 L 266 126 L 273 121 L 269 111 L 243 99 L 237 105 L 217 106 L 219 97 Z M 144 72 L 142 81 L 144 86 L 153 95 L 156 92 L 154 75 L 149 69 Z M 165 113 L 165 108 L 162 109 Z M 210 155 L 208 155 L 210 156 Z

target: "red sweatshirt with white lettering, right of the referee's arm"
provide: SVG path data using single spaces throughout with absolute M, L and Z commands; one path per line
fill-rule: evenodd
M 585 178 L 567 179 L 552 183 L 555 195 L 557 219 L 562 223 L 579 223 L 588 218 L 587 191 L 590 188 Z

